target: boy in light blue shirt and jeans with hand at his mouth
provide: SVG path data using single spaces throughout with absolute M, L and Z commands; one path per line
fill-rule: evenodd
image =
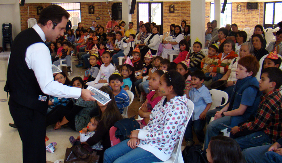
M 203 145 L 204 143 L 203 129 L 206 125 L 206 113 L 212 106 L 210 91 L 203 84 L 205 78 L 204 72 L 200 70 L 191 74 L 191 88 L 188 98 L 194 103 L 194 110 L 184 134 L 186 145 L 194 144 L 192 128 L 200 142 L 199 144 Z

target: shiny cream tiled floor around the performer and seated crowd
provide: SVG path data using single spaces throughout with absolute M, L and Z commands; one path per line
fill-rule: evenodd
M 13 123 L 13 119 L 8 108 L 7 92 L 3 91 L 3 87 L 6 83 L 8 56 L 9 52 L 0 53 L 0 70 L 2 72 L 0 74 L 0 163 L 19 163 L 22 162 L 22 142 L 19 137 L 18 130 L 11 128 L 8 125 L 9 123 Z M 71 73 L 70 80 L 75 76 L 83 77 L 85 71 L 74 66 L 77 64 L 77 61 L 74 61 L 74 58 L 75 57 L 72 59 L 73 73 Z M 65 67 L 63 68 L 63 71 L 66 71 Z M 138 108 L 141 104 L 142 103 L 137 101 L 135 98 L 128 108 L 128 117 L 135 116 L 135 118 L 137 118 Z M 46 142 L 46 145 L 53 141 L 57 143 L 54 154 L 46 152 L 47 160 L 54 162 L 55 160 L 64 159 L 66 147 L 71 147 L 69 142 L 69 137 L 71 135 L 76 137 L 79 133 L 68 127 L 55 131 L 53 130 L 52 125 L 47 127 L 46 136 L 49 140 Z M 185 142 L 183 142 L 182 145 L 185 145 Z

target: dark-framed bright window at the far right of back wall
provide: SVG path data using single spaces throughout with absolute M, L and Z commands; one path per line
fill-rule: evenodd
M 264 3 L 264 26 L 276 27 L 282 21 L 282 1 Z

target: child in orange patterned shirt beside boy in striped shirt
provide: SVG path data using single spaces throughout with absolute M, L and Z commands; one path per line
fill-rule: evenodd
M 208 55 L 205 56 L 204 59 L 201 61 L 201 70 L 204 73 L 209 72 L 209 68 L 212 65 L 212 62 L 217 58 L 218 54 L 218 45 L 212 44 L 209 47 Z

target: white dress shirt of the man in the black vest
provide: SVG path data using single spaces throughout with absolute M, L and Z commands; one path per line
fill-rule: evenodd
M 36 24 L 32 28 L 45 41 L 45 34 L 39 25 Z M 44 43 L 30 45 L 25 53 L 25 61 L 29 69 L 34 71 L 37 82 L 45 94 L 76 99 L 80 97 L 81 88 L 69 87 L 54 81 L 50 50 Z

